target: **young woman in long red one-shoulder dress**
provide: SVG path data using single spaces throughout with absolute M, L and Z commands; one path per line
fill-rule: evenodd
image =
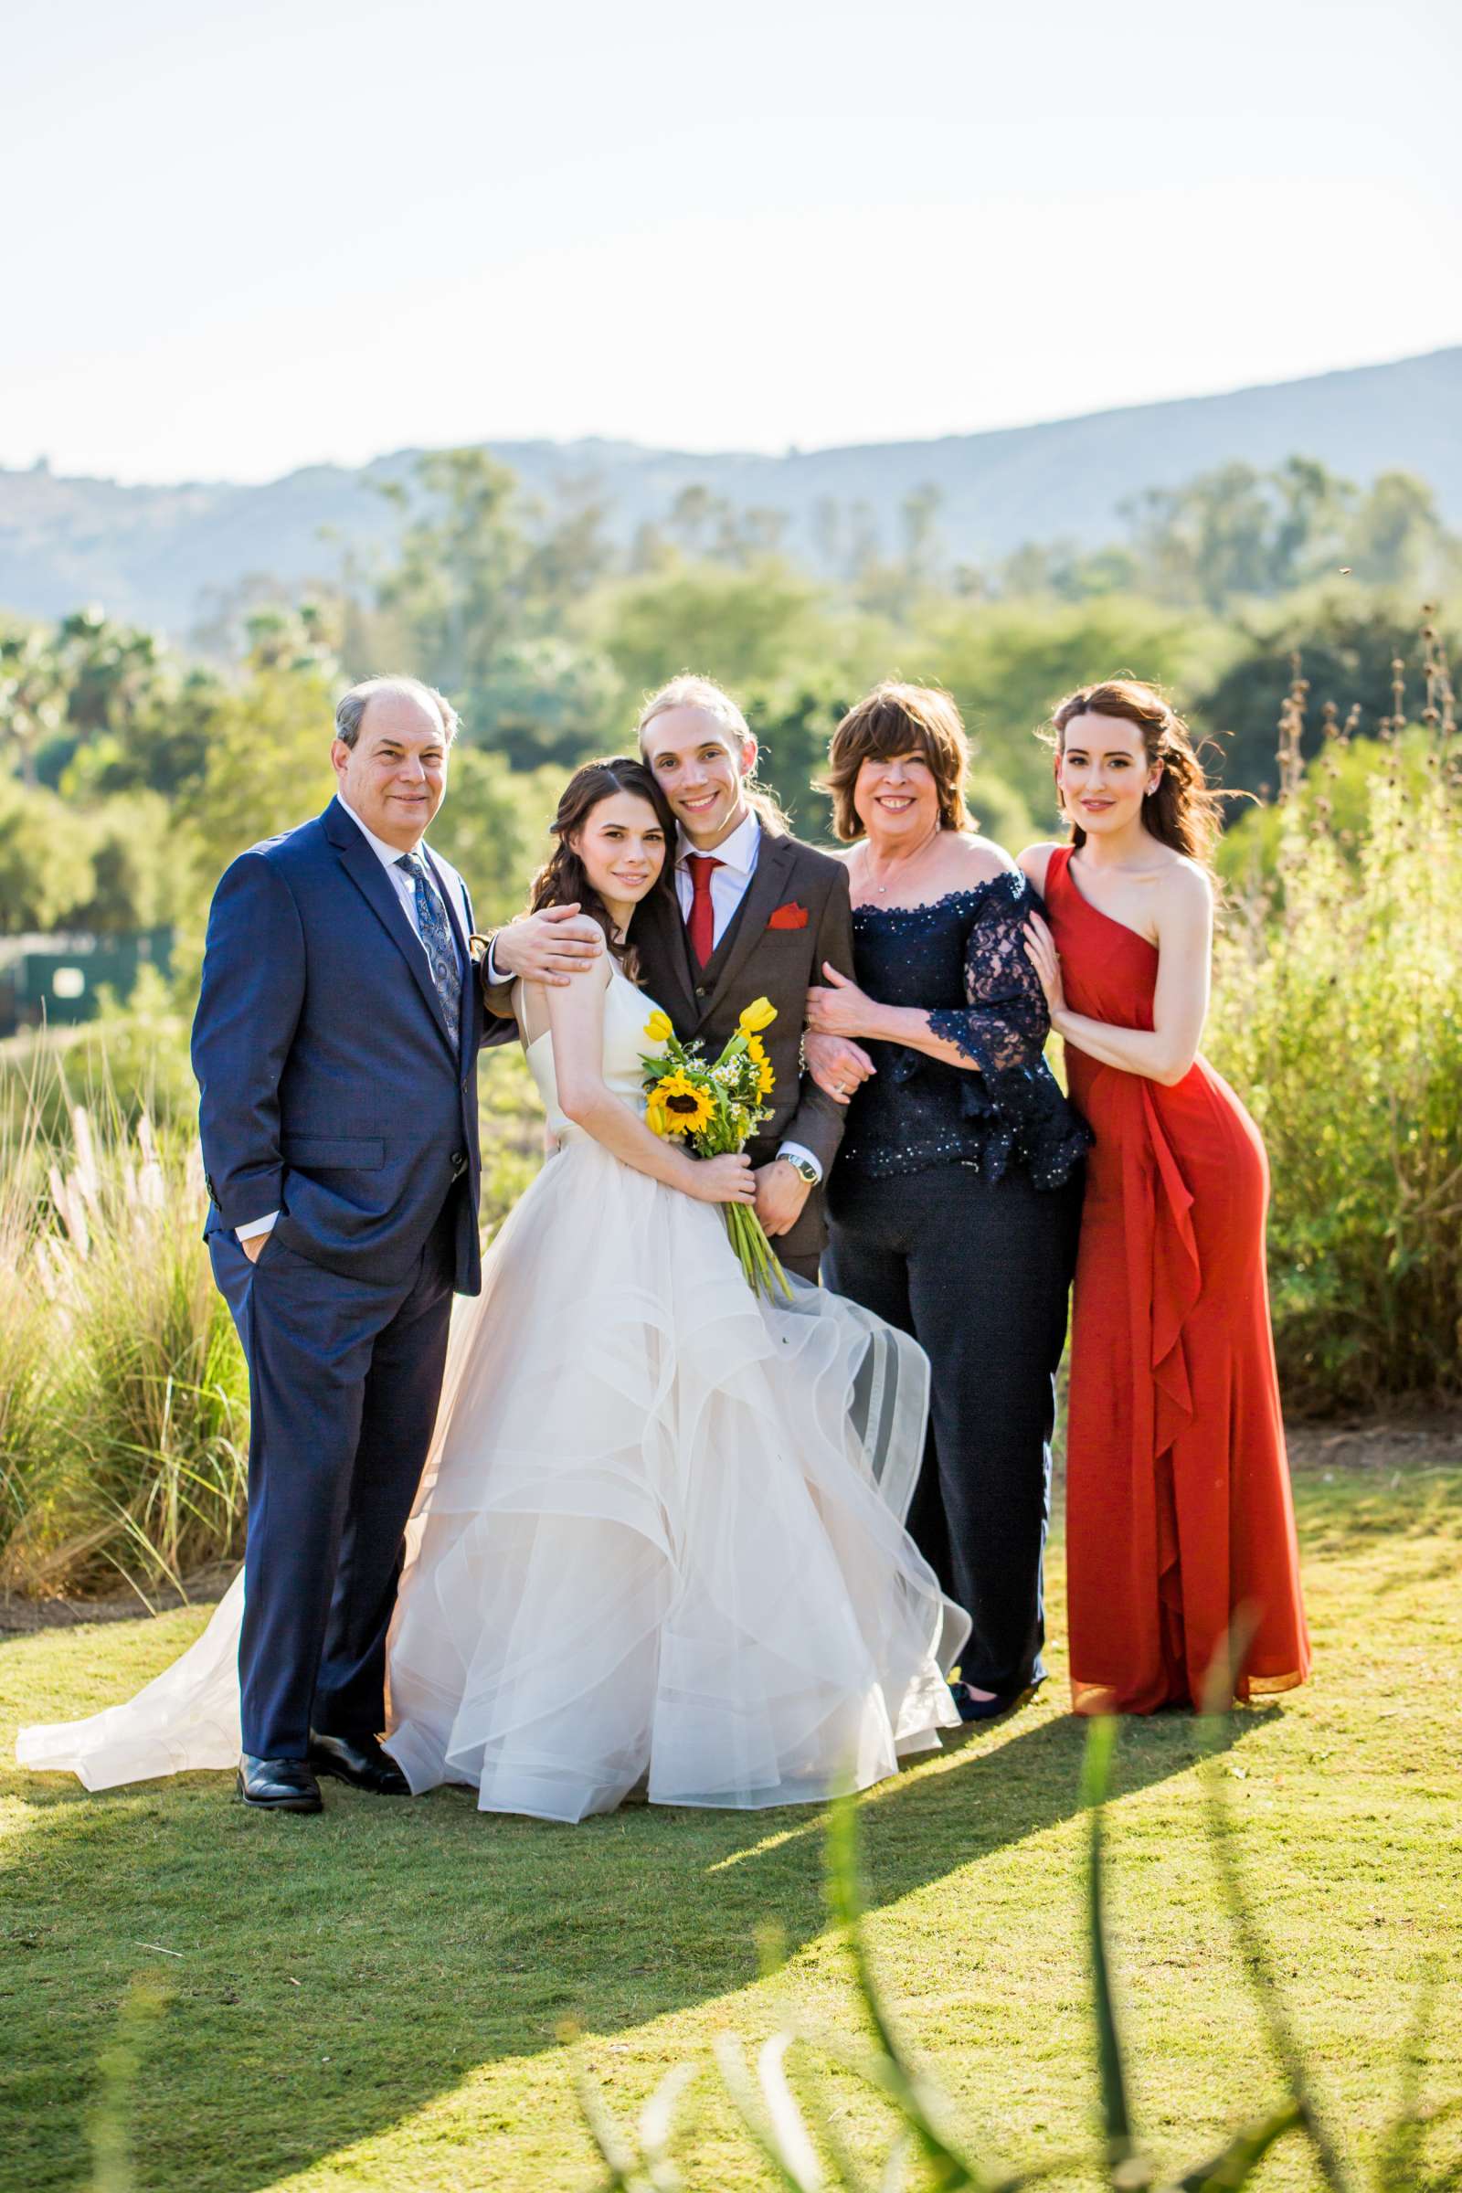
M 1203 1700 L 1311 1664 L 1269 1329 L 1258 1127 L 1199 1057 L 1214 794 L 1160 693 L 1111 680 L 1054 713 L 1070 844 L 1021 868 L 1028 952 L 1096 1136 L 1076 1261 L 1067 1594 L 1076 1713 Z

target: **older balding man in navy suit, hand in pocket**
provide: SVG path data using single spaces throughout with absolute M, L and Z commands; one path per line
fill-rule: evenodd
M 320 1811 L 320 1772 L 406 1794 L 386 1632 L 452 1296 L 480 1287 L 471 901 L 425 844 L 454 732 L 416 680 L 355 686 L 335 798 L 235 860 L 208 914 L 206 1239 L 252 1410 L 239 1796 L 283 1811 Z M 572 912 L 517 923 L 500 969 L 585 965 L 603 939 Z

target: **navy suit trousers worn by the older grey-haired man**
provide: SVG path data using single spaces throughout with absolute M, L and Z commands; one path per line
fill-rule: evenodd
M 379 1735 L 401 1539 L 452 1318 L 452 1189 L 414 1272 L 342 1279 L 270 1235 L 256 1263 L 210 1237 L 250 1375 L 243 1750 L 305 1759 L 311 1726 Z

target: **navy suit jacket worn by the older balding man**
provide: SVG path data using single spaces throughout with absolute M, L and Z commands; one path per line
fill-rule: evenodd
M 478 1294 L 482 996 L 460 877 L 423 853 L 462 965 L 458 1055 L 406 908 L 338 800 L 221 877 L 193 1020 L 204 1237 L 278 1211 L 300 1257 L 395 1285 L 456 1193 L 454 1285 Z

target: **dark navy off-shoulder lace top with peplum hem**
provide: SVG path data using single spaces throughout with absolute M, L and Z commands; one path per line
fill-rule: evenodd
M 879 1070 L 848 1105 L 839 1169 L 973 1164 L 1000 1180 L 1024 1164 L 1037 1189 L 1070 1178 L 1092 1136 L 1041 1055 L 1050 1015 L 1021 936 L 1039 904 L 1010 871 L 927 906 L 853 908 L 859 989 L 881 1004 L 929 1009 L 934 1033 L 958 1044 L 973 1070 L 905 1044 L 864 1044 Z

